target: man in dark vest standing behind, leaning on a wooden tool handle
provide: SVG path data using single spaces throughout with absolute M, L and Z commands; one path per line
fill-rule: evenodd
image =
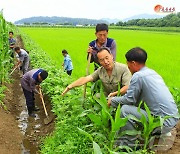
M 91 56 L 91 63 L 94 62 L 94 70 L 98 69 L 100 63 L 97 58 L 97 51 L 102 47 L 107 47 L 110 49 L 113 60 L 116 60 L 116 42 L 112 38 L 108 38 L 108 25 L 105 23 L 97 24 L 96 25 L 96 40 L 93 40 L 89 43 L 88 47 L 88 55 L 89 53 L 92 54 Z

